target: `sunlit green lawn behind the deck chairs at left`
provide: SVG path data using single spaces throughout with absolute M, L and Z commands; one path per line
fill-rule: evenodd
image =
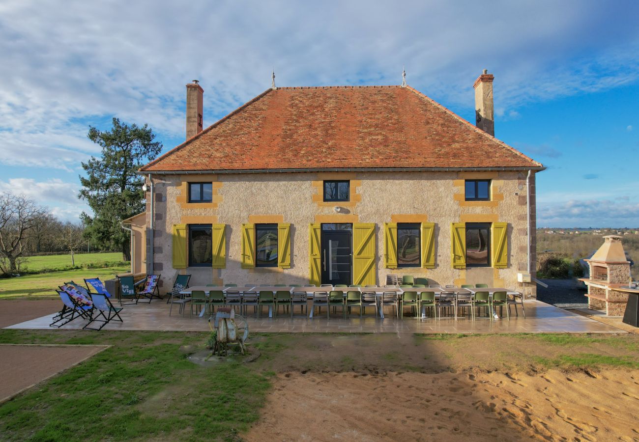
M 103 281 L 111 279 L 114 275 L 130 271 L 128 266 L 115 266 L 107 268 L 79 269 L 52 271 L 49 273 L 37 273 L 24 275 L 17 278 L 0 279 L 0 298 L 24 298 L 24 297 L 58 297 L 55 290 L 58 286 L 70 280 L 83 284 L 83 278 L 99 277 Z

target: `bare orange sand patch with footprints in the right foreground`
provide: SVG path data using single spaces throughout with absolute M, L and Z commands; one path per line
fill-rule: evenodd
M 639 370 L 287 373 L 274 383 L 249 441 L 639 437 Z

